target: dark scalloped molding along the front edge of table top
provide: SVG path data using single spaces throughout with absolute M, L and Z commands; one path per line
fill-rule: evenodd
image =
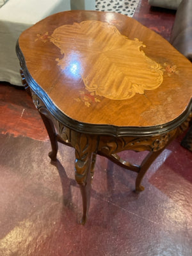
M 158 134 L 164 134 L 165 132 L 170 132 L 176 129 L 185 122 L 192 111 L 192 99 L 190 100 L 187 108 L 183 113 L 166 124 L 148 126 L 148 127 L 120 127 L 108 124 L 88 124 L 83 122 L 78 122 L 67 115 L 65 115 L 55 104 L 52 102 L 47 93 L 36 83 L 36 81 L 31 77 L 28 68 L 26 67 L 26 61 L 24 55 L 19 47 L 19 40 L 16 44 L 16 53 L 20 61 L 20 67 L 23 70 L 24 77 L 29 87 L 36 95 L 44 102 L 46 108 L 50 113 L 56 118 L 61 124 L 67 126 L 74 131 L 85 133 L 85 134 L 95 134 L 95 135 L 106 135 L 106 136 L 156 136 Z

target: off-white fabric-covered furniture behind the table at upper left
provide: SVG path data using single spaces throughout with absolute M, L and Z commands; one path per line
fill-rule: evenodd
M 0 8 L 0 81 L 22 85 L 15 45 L 20 33 L 39 20 L 70 10 L 70 0 L 8 0 Z

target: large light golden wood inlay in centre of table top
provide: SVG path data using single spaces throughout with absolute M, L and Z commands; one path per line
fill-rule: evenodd
M 95 95 L 125 100 L 163 83 L 163 67 L 141 51 L 146 46 L 137 38 L 121 35 L 107 22 L 85 20 L 63 25 L 49 38 L 64 54 L 56 59 L 62 70 L 81 77 L 86 90 Z M 86 63 L 92 65 L 91 70 Z

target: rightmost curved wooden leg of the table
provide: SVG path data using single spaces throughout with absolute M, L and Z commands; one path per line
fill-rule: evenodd
M 150 165 L 157 158 L 157 156 L 161 154 L 163 150 L 164 148 L 156 152 L 149 152 L 148 155 L 145 157 L 145 159 L 143 159 L 140 166 L 140 172 L 138 173 L 138 177 L 136 178 L 136 192 L 140 192 L 145 189 L 143 186 L 141 186 L 141 181 L 145 173 L 147 172 L 148 168 L 150 167 Z

